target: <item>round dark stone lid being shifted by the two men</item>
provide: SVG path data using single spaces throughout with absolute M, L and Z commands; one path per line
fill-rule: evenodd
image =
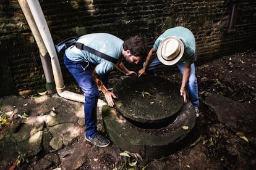
M 157 76 L 132 76 L 113 87 L 115 108 L 139 123 L 160 123 L 181 110 L 179 85 Z

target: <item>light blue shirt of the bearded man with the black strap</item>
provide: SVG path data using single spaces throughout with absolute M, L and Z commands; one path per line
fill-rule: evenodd
M 85 44 L 85 46 L 96 49 L 103 54 L 109 55 L 114 59 L 119 59 L 122 54 L 122 44 L 124 41 L 117 38 L 116 36 L 108 33 L 92 33 L 80 36 L 77 42 Z M 75 46 L 70 46 L 66 49 L 65 54 L 69 60 L 78 62 L 87 60 L 90 63 L 96 65 L 95 71 L 98 75 L 106 73 L 107 71 L 113 70 L 115 64 L 108 60 L 102 59 L 97 55 L 91 54 L 90 52 L 77 49 Z

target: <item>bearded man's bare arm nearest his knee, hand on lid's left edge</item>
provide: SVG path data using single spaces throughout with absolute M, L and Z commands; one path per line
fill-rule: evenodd
M 114 101 L 113 101 L 112 97 L 116 98 L 116 95 L 114 95 L 113 92 L 109 92 L 108 89 L 106 89 L 106 87 L 104 86 L 102 81 L 99 79 L 100 76 L 96 73 L 95 69 L 93 70 L 92 76 L 95 79 L 95 82 L 96 82 L 98 88 L 100 88 L 101 91 L 103 92 L 103 94 L 105 95 L 105 98 L 106 98 L 106 101 L 108 102 L 108 105 L 110 107 L 113 107 L 114 106 Z

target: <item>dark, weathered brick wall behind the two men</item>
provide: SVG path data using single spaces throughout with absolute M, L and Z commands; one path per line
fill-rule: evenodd
M 237 17 L 228 31 L 234 3 Z M 166 28 L 180 25 L 195 34 L 198 63 L 255 47 L 254 0 L 40 0 L 40 4 L 55 43 L 69 36 L 107 32 L 121 39 L 140 34 L 151 47 Z M 43 89 L 40 55 L 19 2 L 0 0 L 0 9 L 0 95 Z M 72 81 L 59 60 L 64 81 Z

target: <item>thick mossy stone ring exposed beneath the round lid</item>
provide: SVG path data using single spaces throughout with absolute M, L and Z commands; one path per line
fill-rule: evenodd
M 168 155 L 174 144 L 184 139 L 195 126 L 195 109 L 186 103 L 174 123 L 160 129 L 142 129 L 127 121 L 116 109 L 103 105 L 103 123 L 109 138 L 122 150 L 152 158 Z M 188 129 L 184 128 L 187 127 Z

